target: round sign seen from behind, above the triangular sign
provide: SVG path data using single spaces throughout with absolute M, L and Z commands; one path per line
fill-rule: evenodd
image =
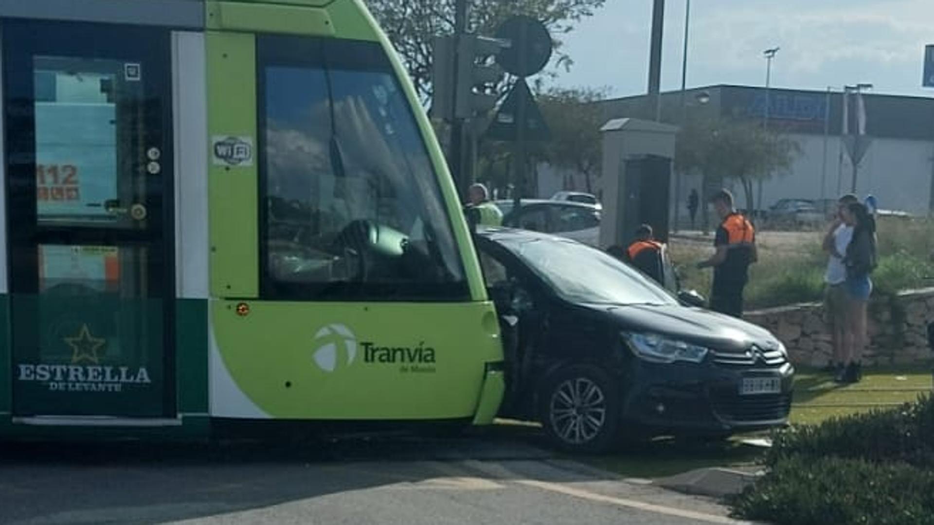
M 502 50 L 497 62 L 517 77 L 531 77 L 545 69 L 551 60 L 554 44 L 541 21 L 527 16 L 513 17 L 502 22 L 496 37 L 512 42 L 508 49 Z

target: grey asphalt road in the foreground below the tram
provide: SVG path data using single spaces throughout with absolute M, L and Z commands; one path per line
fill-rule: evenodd
M 736 523 L 515 440 L 0 444 L 0 523 Z

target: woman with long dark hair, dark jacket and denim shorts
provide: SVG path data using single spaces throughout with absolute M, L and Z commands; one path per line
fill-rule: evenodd
M 838 383 L 856 383 L 862 379 L 863 351 L 868 343 L 867 310 L 872 294 L 870 274 L 876 267 L 875 220 L 866 205 L 852 203 L 842 209 L 842 220 L 853 227 L 853 239 L 846 247 L 843 283 L 849 345 L 844 357 L 846 366 L 834 378 Z

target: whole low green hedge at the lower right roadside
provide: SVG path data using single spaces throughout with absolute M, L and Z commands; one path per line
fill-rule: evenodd
M 778 524 L 934 525 L 934 398 L 774 434 L 768 474 L 730 498 Z

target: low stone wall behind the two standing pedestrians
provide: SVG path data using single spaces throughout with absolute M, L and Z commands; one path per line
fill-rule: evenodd
M 927 323 L 934 321 L 934 288 L 874 298 L 869 313 L 867 364 L 927 362 Z M 823 366 L 832 355 L 824 305 L 809 303 L 747 312 L 745 320 L 762 326 L 785 343 L 791 361 Z

